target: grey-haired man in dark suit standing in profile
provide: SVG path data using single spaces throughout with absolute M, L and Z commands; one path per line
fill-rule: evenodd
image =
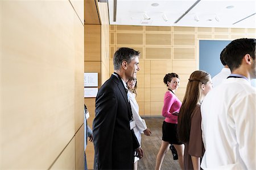
M 132 130 L 134 124 L 126 82 L 137 76 L 139 52 L 119 48 L 113 63 L 114 73 L 101 86 L 96 97 L 94 169 L 133 169 L 134 151 L 140 158 L 143 152 Z

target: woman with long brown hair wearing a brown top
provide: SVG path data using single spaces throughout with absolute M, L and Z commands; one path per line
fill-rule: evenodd
M 185 143 L 184 169 L 200 169 L 200 158 L 204 154 L 204 144 L 201 131 L 200 106 L 212 89 L 210 74 L 195 71 L 188 79 L 185 96 L 180 108 L 177 134 L 179 140 Z

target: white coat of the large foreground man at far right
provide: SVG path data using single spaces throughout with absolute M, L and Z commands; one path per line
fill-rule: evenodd
M 256 89 L 228 78 L 201 105 L 203 169 L 255 169 Z

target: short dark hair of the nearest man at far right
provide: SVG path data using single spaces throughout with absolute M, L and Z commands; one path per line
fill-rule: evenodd
M 224 61 L 231 71 L 240 67 L 242 59 L 249 54 L 255 60 L 255 39 L 237 39 L 226 46 L 224 51 Z

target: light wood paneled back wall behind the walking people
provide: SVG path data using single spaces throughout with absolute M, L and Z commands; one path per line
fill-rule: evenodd
M 182 101 L 190 74 L 199 69 L 199 40 L 233 40 L 255 38 L 255 29 L 202 28 L 202 27 L 151 27 L 110 26 L 110 72 L 113 55 L 120 47 L 130 47 L 141 52 L 137 74 L 140 114 L 162 115 L 166 73 L 180 76 L 180 88 L 176 94 Z

